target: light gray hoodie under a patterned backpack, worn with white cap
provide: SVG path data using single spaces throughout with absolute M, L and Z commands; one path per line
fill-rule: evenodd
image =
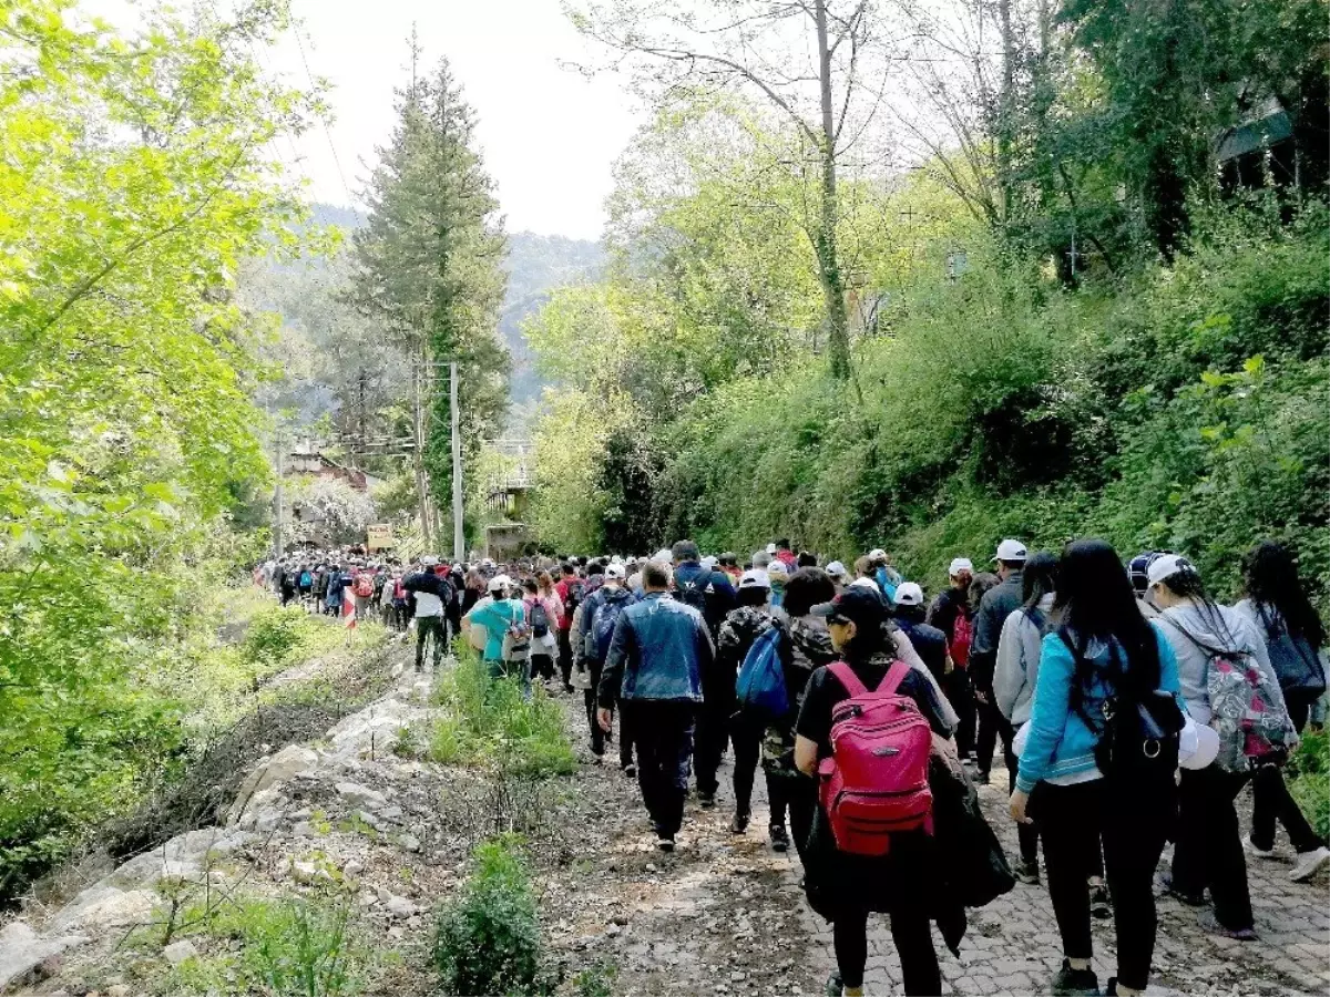
M 1279 679 L 1270 667 L 1265 641 L 1246 617 L 1216 606 L 1185 604 L 1165 609 L 1156 621 L 1168 638 L 1177 658 L 1177 674 L 1182 686 L 1186 711 L 1197 723 L 1210 722 L 1210 694 L 1206 683 L 1213 654 L 1249 654 L 1270 681 L 1271 694 L 1279 709 L 1287 710 Z

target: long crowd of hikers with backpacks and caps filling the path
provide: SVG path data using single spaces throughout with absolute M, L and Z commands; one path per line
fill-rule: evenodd
M 1017 880 L 1047 880 L 1055 997 L 1132 997 L 1149 981 L 1156 884 L 1241 941 L 1256 937 L 1246 860 L 1275 857 L 1277 826 L 1297 852 L 1290 879 L 1330 863 L 1282 770 L 1325 719 L 1326 633 L 1273 541 L 1244 558 L 1232 608 L 1185 557 L 1124 564 L 1096 540 L 1033 554 L 1003 540 L 991 570 L 952 560 L 931 600 L 883 550 L 847 569 L 783 540 L 742 560 L 692 541 L 509 565 L 332 560 L 262 570 L 311 611 L 350 586 L 384 622 L 414 618 L 418 669 L 427 645 L 438 665 L 460 634 L 528 694 L 580 693 L 595 762 L 617 740 L 661 851 L 676 848 L 690 782 L 717 806 L 730 751 L 729 827 L 746 833 L 761 768 L 770 847 L 793 844 L 834 925 L 830 997 L 863 993 L 870 913 L 890 917 L 907 997 L 940 994 L 932 925 L 956 952 L 966 909 Z M 1015 865 L 978 804 L 995 758 Z M 1095 917 L 1117 936 L 1103 992 Z

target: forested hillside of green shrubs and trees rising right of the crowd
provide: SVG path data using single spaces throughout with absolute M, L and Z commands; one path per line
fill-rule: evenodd
M 876 9 L 841 27 L 879 61 L 826 66 L 850 122 L 826 136 L 789 39 L 580 24 L 662 102 L 617 170 L 605 279 L 528 327 L 560 386 L 547 542 L 789 534 L 936 582 L 1000 536 L 1103 534 L 1228 588 L 1273 536 L 1330 593 L 1330 8 Z M 895 29 L 907 61 L 872 45 Z

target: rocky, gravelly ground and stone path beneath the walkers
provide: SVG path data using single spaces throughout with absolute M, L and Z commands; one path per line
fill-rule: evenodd
M 114 869 L 70 871 L 47 903 L 29 903 L 0 929 L 0 988 L 40 997 L 161 993 L 173 964 L 234 944 L 188 931 L 201 905 L 336 895 L 351 899 L 354 929 L 383 956 L 370 993 L 431 993 L 431 909 L 466 876 L 476 841 L 517 831 L 529 843 L 549 957 L 569 976 L 617 966 L 622 997 L 823 992 L 830 932 L 803 903 L 797 856 L 767 847 L 765 804 L 735 836 L 728 791 L 713 811 L 690 803 L 678 851 L 658 853 L 636 786 L 614 764 L 592 764 L 581 747 L 585 720 L 572 698 L 560 699 L 581 760 L 571 778 L 496 783 L 419 760 L 431 677 L 404 662 L 404 649 L 390 655 L 386 667 L 399 671 L 391 691 L 322 738 L 274 746 L 223 826 L 178 835 Z M 982 798 L 1013 849 L 1003 788 L 983 788 Z M 1157 992 L 1330 994 L 1326 883 L 1295 885 L 1286 873 L 1286 863 L 1252 865 L 1258 942 L 1212 939 L 1193 911 L 1161 900 Z M 896 993 L 886 925 L 871 931 L 868 992 Z M 1111 923 L 1096 925 L 1096 940 L 1107 980 Z M 1045 993 L 1059 958 L 1047 893 L 1017 885 L 972 915 L 959 960 L 943 956 L 946 992 Z

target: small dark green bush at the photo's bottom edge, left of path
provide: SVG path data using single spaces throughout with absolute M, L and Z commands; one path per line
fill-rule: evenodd
M 439 912 L 434 964 L 448 997 L 547 997 L 540 924 L 527 867 L 512 839 L 476 847 L 475 868 Z

